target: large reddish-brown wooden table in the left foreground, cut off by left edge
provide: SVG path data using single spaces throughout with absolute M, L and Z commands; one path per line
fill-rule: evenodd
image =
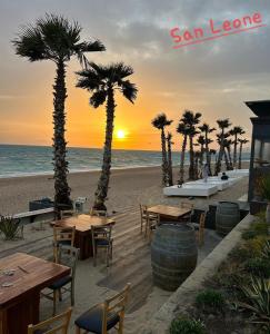
M 4 275 L 7 269 L 14 274 Z M 0 334 L 27 334 L 28 325 L 39 322 L 40 291 L 69 273 L 69 267 L 24 253 L 0 258 Z

